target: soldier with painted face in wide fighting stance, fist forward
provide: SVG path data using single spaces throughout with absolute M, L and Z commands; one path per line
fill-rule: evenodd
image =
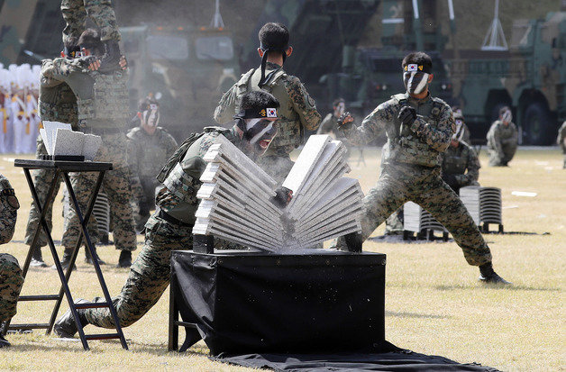
M 341 118 L 341 128 L 354 144 L 364 144 L 386 132 L 384 167 L 377 186 L 364 197 L 361 238 L 370 234 L 407 201 L 430 212 L 452 233 L 470 265 L 479 266 L 480 280 L 507 283 L 491 265 L 491 252 L 470 213 L 458 195 L 440 177 L 440 155 L 454 131 L 452 110 L 430 95 L 432 59 L 423 52 L 403 59 L 406 93 L 393 95 L 368 115 L 360 127 L 350 115 Z M 337 246 L 345 249 L 345 240 Z

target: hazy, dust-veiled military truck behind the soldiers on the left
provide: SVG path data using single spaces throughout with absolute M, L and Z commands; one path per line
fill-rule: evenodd
M 130 99 L 152 95 L 161 122 L 178 139 L 213 122 L 222 93 L 240 68 L 233 39 L 224 28 L 143 25 L 120 28 L 130 66 Z

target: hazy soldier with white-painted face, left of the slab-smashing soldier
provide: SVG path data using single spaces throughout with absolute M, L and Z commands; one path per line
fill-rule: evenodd
M 128 140 L 132 144 L 130 169 L 132 176 L 139 178 L 143 193 L 141 199 L 134 200 L 138 209 L 136 230 L 140 231 L 150 218 L 150 210 L 155 207 L 155 188 L 161 186 L 155 177 L 177 150 L 178 144 L 173 136 L 158 126 L 160 111 L 156 101 L 142 100 L 137 118 L 140 126 L 128 132 Z

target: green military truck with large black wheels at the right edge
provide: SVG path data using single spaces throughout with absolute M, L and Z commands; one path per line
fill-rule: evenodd
M 524 144 L 549 145 L 566 120 L 566 12 L 517 20 L 508 51 L 444 53 L 453 94 L 472 137 L 483 136 L 504 105 Z

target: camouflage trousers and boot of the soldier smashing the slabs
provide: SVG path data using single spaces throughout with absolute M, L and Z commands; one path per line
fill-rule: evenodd
M 192 227 L 173 225 L 154 213 L 145 228 L 143 248 L 130 268 L 122 292 L 113 298 L 122 327 L 140 320 L 169 286 L 171 250 L 193 248 Z M 114 328 L 114 320 L 107 308 L 87 309 L 84 314 L 96 327 Z

